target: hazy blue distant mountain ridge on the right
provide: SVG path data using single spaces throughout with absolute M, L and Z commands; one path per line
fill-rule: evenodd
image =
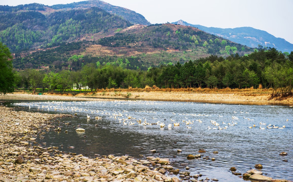
M 173 22 L 173 24 L 186 25 L 197 27 L 205 32 L 221 36 L 228 40 L 247 45 L 250 48 L 258 48 L 259 45 L 263 47 L 276 48 L 282 52 L 290 53 L 293 51 L 293 44 L 289 43 L 283 38 L 276 38 L 266 31 L 258 30 L 252 27 L 239 27 L 239 28 L 214 28 L 205 27 L 202 25 L 193 25 L 183 20 Z

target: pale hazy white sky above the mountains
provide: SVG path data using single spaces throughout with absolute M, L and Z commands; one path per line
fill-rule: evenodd
M 68 4 L 84 0 L 0 0 L 0 5 Z M 184 20 L 207 27 L 250 26 L 293 43 L 292 0 L 103 0 L 143 15 L 151 23 Z

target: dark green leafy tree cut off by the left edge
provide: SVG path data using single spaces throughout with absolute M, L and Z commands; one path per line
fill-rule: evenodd
M 15 87 L 12 72 L 12 56 L 6 45 L 0 42 L 0 93 L 12 93 Z

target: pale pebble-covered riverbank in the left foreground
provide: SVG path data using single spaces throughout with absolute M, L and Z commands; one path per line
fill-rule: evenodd
M 55 129 L 54 119 L 70 115 L 0 106 L 0 116 L 0 181 L 179 181 L 172 170 L 179 171 L 168 159 L 113 155 L 88 158 L 35 142 L 45 130 Z

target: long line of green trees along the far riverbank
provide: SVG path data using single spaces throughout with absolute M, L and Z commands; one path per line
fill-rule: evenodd
M 81 70 L 44 72 L 27 69 L 15 72 L 17 87 L 37 87 L 54 90 L 98 90 L 102 88 L 274 88 L 275 94 L 292 93 L 293 52 L 284 55 L 274 48 L 255 51 L 250 55 L 209 56 L 184 64 L 149 67 L 148 70 L 130 70 L 115 65 L 89 63 Z

